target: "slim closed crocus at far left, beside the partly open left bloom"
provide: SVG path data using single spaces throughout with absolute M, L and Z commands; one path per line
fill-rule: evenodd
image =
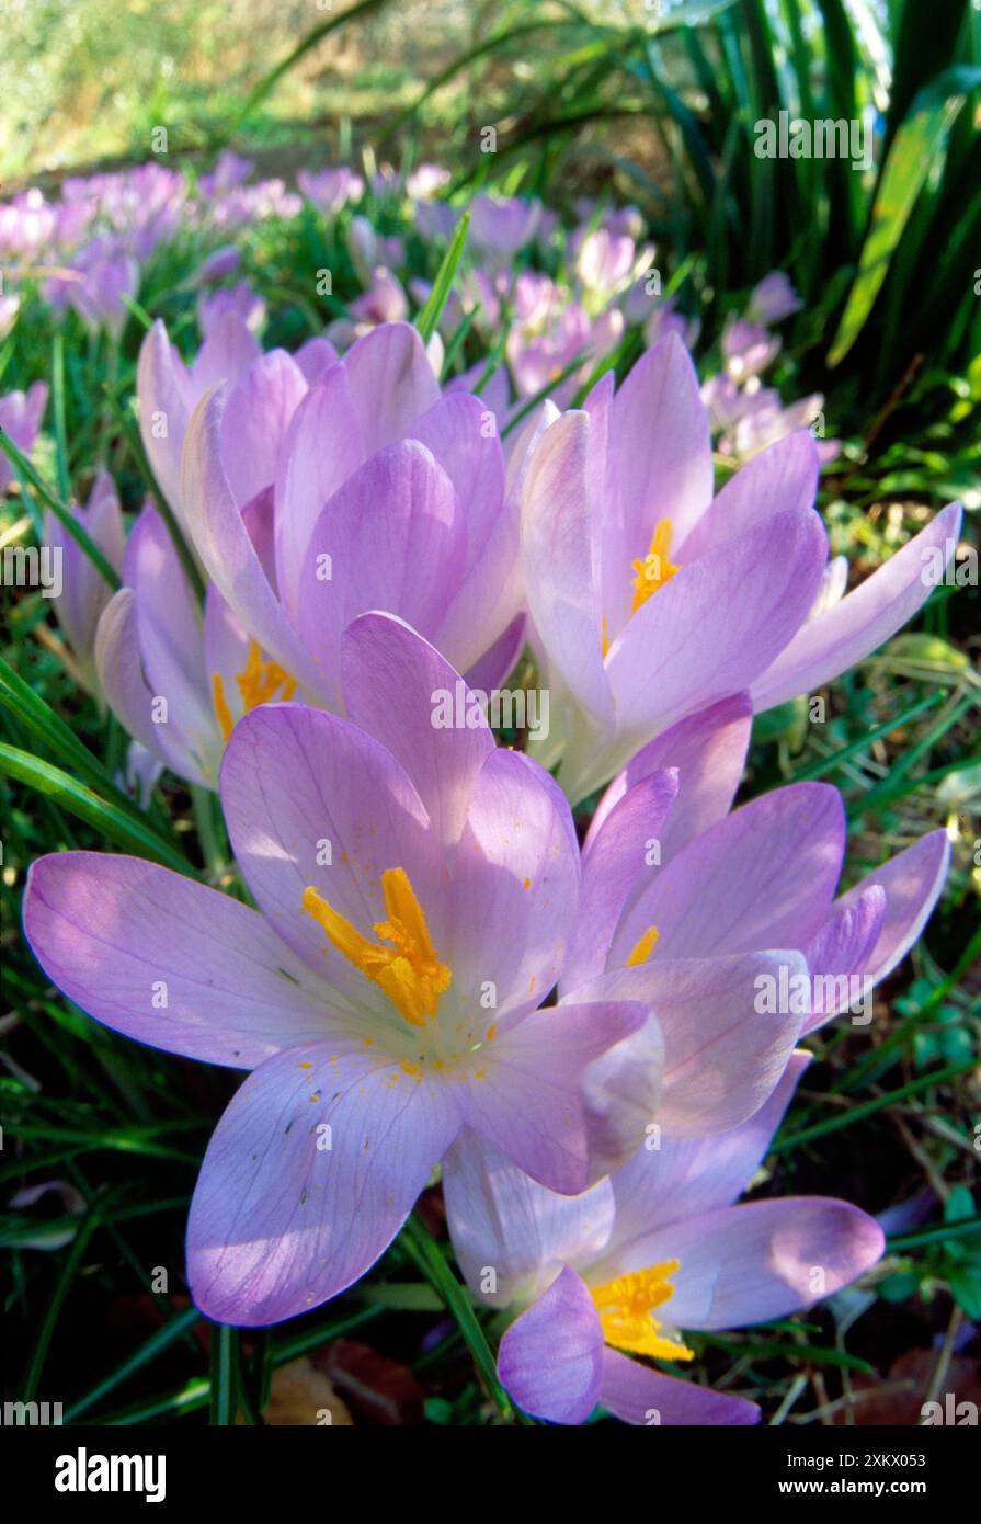
M 125 527 L 108 471 L 99 471 L 84 507 L 73 509 L 88 538 L 117 572 L 122 567 Z M 52 599 L 55 617 L 72 646 L 75 661 L 90 692 L 99 692 L 96 677 L 96 629 L 113 590 L 78 541 L 53 514 L 44 515 L 44 538 L 61 559 L 61 591 Z

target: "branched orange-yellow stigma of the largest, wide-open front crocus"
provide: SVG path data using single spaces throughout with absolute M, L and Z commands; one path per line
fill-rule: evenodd
M 449 989 L 452 972 L 439 960 L 405 869 L 387 869 L 381 887 L 388 919 L 375 922 L 378 942 L 361 936 L 312 885 L 303 890 L 303 910 L 323 927 L 337 951 L 385 992 L 410 1026 L 423 1027 L 436 1015 L 439 997 Z

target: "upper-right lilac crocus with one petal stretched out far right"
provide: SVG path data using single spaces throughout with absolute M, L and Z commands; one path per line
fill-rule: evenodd
M 609 372 L 545 428 L 522 492 L 522 567 L 558 718 L 536 754 L 561 759 L 570 799 L 728 693 L 749 689 L 763 710 L 827 683 L 915 613 L 960 506 L 809 619 L 827 564 L 816 482 L 801 431 L 713 498 L 708 415 L 673 334 L 618 390 Z

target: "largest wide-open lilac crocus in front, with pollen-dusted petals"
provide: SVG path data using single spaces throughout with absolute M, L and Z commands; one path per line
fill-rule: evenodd
M 190 1209 L 190 1286 L 215 1320 L 274 1323 L 350 1285 L 463 1126 L 579 1192 L 622 1091 L 655 1108 L 646 1006 L 539 1009 L 576 913 L 571 815 L 475 703 L 471 725 L 433 727 L 431 695 L 457 681 L 369 614 L 344 642 L 349 719 L 268 704 L 236 727 L 221 797 L 259 910 L 139 858 L 34 864 L 24 931 L 70 1000 L 251 1070 Z

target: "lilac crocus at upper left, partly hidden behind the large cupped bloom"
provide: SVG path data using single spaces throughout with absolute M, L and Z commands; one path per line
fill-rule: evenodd
M 180 462 L 187 422 L 203 396 L 225 386 L 222 454 L 239 509 L 273 485 L 276 457 L 289 421 L 309 386 L 337 360 L 326 338 L 309 338 L 296 355 L 262 352 L 238 302 L 221 293 L 221 311 L 207 322 L 207 337 L 186 366 L 160 320 L 140 347 L 137 399 L 140 434 L 163 495 L 187 529 Z

